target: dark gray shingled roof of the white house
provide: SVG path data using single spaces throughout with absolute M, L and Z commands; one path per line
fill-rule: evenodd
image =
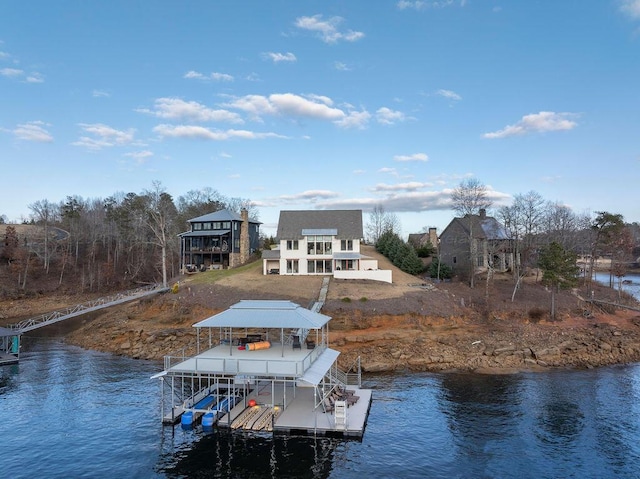
M 337 230 L 338 239 L 361 239 L 362 210 L 296 210 L 281 211 L 278 221 L 279 240 L 302 239 L 302 230 Z

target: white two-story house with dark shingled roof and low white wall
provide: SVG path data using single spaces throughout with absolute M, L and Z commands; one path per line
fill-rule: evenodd
M 263 273 L 333 275 L 391 283 L 391 271 L 360 253 L 362 210 L 281 211 L 278 247 L 262 253 Z

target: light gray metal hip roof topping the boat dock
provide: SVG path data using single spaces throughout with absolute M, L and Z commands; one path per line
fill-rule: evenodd
M 195 328 L 320 329 L 331 318 L 284 300 L 243 300 L 194 324 Z

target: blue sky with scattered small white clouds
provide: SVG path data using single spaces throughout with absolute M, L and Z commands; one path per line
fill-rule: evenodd
M 536 191 L 640 221 L 640 0 L 24 0 L 0 7 L 0 215 L 212 188 L 407 235 Z

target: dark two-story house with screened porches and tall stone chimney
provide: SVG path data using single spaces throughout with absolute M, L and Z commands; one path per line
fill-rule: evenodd
M 189 220 L 189 231 L 180 233 L 181 269 L 187 271 L 235 268 L 248 261 L 260 246 L 259 221 L 220 210 Z

